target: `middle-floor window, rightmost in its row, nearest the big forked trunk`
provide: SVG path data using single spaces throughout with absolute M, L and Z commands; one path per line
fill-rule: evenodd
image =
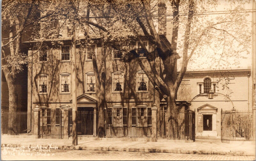
M 148 78 L 144 71 L 138 71 L 137 73 L 137 91 L 146 92 L 148 89 Z

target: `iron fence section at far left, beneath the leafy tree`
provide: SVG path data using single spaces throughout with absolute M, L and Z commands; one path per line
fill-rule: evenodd
M 33 118 L 31 112 L 1 112 L 1 134 L 33 134 Z

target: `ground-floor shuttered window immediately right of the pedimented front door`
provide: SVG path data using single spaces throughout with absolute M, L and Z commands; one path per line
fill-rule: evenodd
M 127 108 L 114 105 L 108 108 L 108 126 L 123 127 L 127 126 Z

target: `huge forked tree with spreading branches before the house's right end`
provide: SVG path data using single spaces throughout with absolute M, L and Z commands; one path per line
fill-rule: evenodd
M 238 65 L 240 53 L 248 54 L 250 32 L 244 13 L 244 1 L 227 1 L 230 8 L 224 14 L 211 15 L 211 8 L 219 7 L 218 0 L 169 0 L 172 18 L 171 44 L 162 40 L 164 30 L 157 31 L 154 16 L 156 6 L 162 3 L 154 0 L 105 0 L 93 1 L 94 5 L 104 4 L 108 13 L 97 17 L 100 26 L 105 28 L 104 39 L 112 41 L 131 42 L 137 40 L 145 51 L 146 61 L 139 58 L 136 50 L 127 50 L 127 55 L 134 55 L 141 69 L 156 87 L 161 98 L 167 103 L 169 119 L 177 124 L 175 105 L 177 92 L 187 70 L 189 62 L 195 63 L 194 57 L 204 57 L 206 51 L 214 53 L 207 56 L 215 63 L 215 69 L 226 65 Z M 164 7 L 162 7 L 163 10 Z M 96 8 L 99 13 L 105 13 L 102 8 Z M 163 12 L 163 11 L 160 11 Z M 164 14 L 164 15 L 162 15 Z M 161 13 L 158 21 L 166 21 L 165 13 Z M 163 17 L 161 17 L 163 16 Z M 102 23 L 104 22 L 104 23 Z M 158 25 L 161 22 L 158 22 Z M 243 30 L 242 30 L 243 29 Z M 146 37 L 155 49 L 148 50 L 143 43 Z M 128 43 L 129 44 L 129 43 Z M 219 58 L 218 58 L 218 57 Z M 177 75 L 177 61 L 182 58 L 182 67 Z M 233 62 L 233 64 L 231 64 Z

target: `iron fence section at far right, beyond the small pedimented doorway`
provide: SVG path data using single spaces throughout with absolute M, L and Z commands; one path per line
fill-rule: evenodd
M 221 111 L 221 140 L 253 140 L 253 113 Z

